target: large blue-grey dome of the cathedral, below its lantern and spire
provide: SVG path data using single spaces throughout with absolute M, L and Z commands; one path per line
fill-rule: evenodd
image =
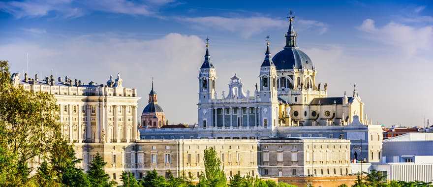
M 277 69 L 293 69 L 293 65 L 297 69 L 312 69 L 313 63 L 309 56 L 297 47 L 284 47 L 273 58 Z

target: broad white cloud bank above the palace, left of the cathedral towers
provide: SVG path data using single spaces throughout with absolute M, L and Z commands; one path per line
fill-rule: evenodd
M 1 58 L 9 60 L 14 72 L 27 68 L 26 53 L 31 76 L 45 77 L 52 69 L 55 77 L 68 75 L 85 83 L 105 84 L 110 74 L 120 72 L 124 86 L 137 88 L 142 97 L 141 110 L 147 105 L 151 77 L 155 77 L 155 91 L 167 119 L 196 121 L 196 77 L 205 53 L 204 41 L 197 36 L 170 33 L 142 40 L 100 34 L 55 44 L 24 41 L 0 46 Z

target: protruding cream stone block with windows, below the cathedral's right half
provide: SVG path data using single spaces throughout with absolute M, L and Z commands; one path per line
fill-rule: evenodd
M 323 177 L 351 174 L 350 141 L 335 138 L 260 140 L 262 177 Z

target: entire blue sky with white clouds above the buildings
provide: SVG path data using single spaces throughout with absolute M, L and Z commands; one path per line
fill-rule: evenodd
M 433 120 L 431 0 L 6 0 L 0 1 L 0 59 L 12 72 L 105 84 L 120 73 L 139 110 L 154 77 L 170 124 L 196 123 L 198 72 L 210 39 L 218 95 L 236 73 L 253 91 L 266 35 L 285 43 L 289 10 L 297 43 L 328 96 L 356 83 L 374 124 Z

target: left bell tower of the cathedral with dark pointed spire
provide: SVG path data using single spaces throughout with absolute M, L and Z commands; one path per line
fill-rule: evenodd
M 211 56 L 209 55 L 209 39 L 206 38 L 206 54 L 205 60 L 200 67 L 198 75 L 199 83 L 199 103 L 211 103 L 216 97 L 216 69 L 212 64 Z

